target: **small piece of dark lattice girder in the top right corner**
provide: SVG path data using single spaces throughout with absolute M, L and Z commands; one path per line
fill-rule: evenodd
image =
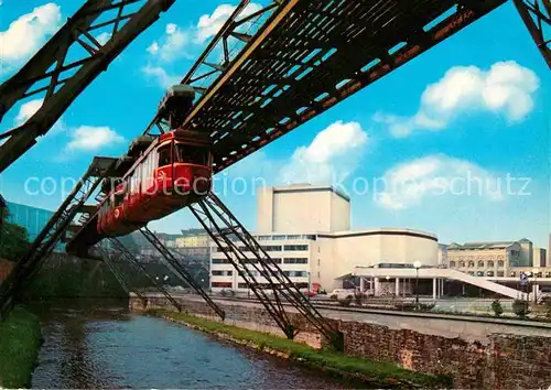
M 514 0 L 518 13 L 532 35 L 543 59 L 551 68 L 551 2 L 550 0 Z

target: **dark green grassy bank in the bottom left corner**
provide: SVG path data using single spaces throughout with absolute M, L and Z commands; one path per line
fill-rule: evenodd
M 40 319 L 15 307 L 0 322 L 0 387 L 28 388 L 41 345 Z

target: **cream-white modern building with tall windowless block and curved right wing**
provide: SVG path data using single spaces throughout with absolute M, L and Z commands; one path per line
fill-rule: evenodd
M 299 288 L 343 286 L 357 267 L 437 267 L 435 235 L 411 229 L 350 230 L 350 199 L 328 186 L 292 185 L 258 191 L 256 239 Z M 245 248 L 242 248 L 245 249 Z M 252 266 L 248 266 L 252 269 Z M 246 291 L 226 256 L 212 250 L 212 288 Z M 258 277 L 258 278 L 257 278 Z M 256 275 L 259 283 L 267 281 Z M 378 278 L 374 279 L 378 289 Z

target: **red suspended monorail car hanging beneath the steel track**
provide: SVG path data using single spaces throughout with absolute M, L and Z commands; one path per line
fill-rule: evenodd
M 169 99 L 162 105 L 172 112 L 171 128 L 176 129 L 150 139 L 121 178 L 104 183 L 107 196 L 98 205 L 97 219 L 97 230 L 101 236 L 130 234 L 151 220 L 197 202 L 210 191 L 210 138 L 179 127 L 182 116 L 175 113 L 180 112 L 177 105 L 182 100 L 177 98 L 184 96 L 186 104 L 183 106 L 190 106 L 191 91 L 176 91 L 180 94 L 171 89 Z M 176 106 L 176 109 L 171 106 Z

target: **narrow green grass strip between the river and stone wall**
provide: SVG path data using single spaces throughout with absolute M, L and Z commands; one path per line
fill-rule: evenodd
M 388 362 L 370 361 L 331 350 L 317 350 L 289 339 L 225 325 L 190 314 L 163 310 L 152 310 L 147 313 L 184 323 L 209 334 L 227 335 L 241 344 L 253 345 L 257 349 L 277 351 L 291 360 L 321 368 L 334 375 L 358 378 L 375 388 L 443 388 L 452 384 L 449 377 L 423 375 Z

